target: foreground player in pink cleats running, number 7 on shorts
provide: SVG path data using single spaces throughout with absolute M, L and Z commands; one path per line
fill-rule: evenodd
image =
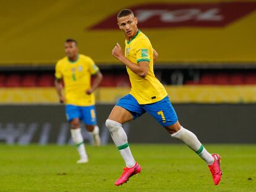
M 106 120 L 106 127 L 126 162 L 124 172 L 114 184 L 122 185 L 132 175 L 141 171 L 140 165 L 135 162 L 130 152 L 127 135 L 122 124 L 148 112 L 166 128 L 172 137 L 183 141 L 207 162 L 213 182 L 218 185 L 222 174 L 220 156 L 210 154 L 194 133 L 180 125 L 164 86 L 153 72 L 153 61 L 158 54 L 152 48 L 147 36 L 138 29 L 137 22 L 137 17 L 129 9 L 123 9 L 117 15 L 118 26 L 126 37 L 126 49 L 123 53 L 121 46 L 117 43 L 112 54 L 126 65 L 132 88 L 129 94 L 117 102 Z

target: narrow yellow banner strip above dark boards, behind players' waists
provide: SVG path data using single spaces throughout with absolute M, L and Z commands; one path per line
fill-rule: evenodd
M 255 103 L 256 86 L 166 86 L 173 103 Z M 99 88 L 98 103 L 115 103 L 130 88 Z M 0 104 L 56 104 L 54 88 L 0 88 Z

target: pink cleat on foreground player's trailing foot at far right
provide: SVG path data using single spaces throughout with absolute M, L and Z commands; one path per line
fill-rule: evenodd
M 221 167 L 220 167 L 220 161 L 221 157 L 218 154 L 213 153 L 211 156 L 215 159 L 212 165 L 208 165 L 211 175 L 213 176 L 213 182 L 215 185 L 218 185 L 221 180 Z

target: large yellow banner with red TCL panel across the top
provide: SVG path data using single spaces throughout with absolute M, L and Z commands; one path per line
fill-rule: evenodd
M 111 50 L 124 48 L 116 15 L 127 8 L 158 64 L 256 64 L 256 1 L 29 0 L 0 2 L 0 66 L 54 66 L 67 38 L 96 64 L 121 65 Z

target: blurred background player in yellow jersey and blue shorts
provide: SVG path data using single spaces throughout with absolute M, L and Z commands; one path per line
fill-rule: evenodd
M 92 135 L 93 143 L 96 146 L 100 145 L 93 91 L 100 84 L 103 75 L 90 57 L 79 54 L 77 41 L 66 40 L 65 52 L 67 56 L 56 64 L 55 87 L 59 101 L 66 104 L 66 117 L 70 123 L 72 140 L 80 155 L 77 163 L 82 164 L 88 162 L 88 156 L 83 143 L 80 120 L 85 123 L 85 127 Z M 95 75 L 95 81 L 91 86 L 92 75 Z M 62 79 L 65 85 L 65 96 L 62 94 Z

